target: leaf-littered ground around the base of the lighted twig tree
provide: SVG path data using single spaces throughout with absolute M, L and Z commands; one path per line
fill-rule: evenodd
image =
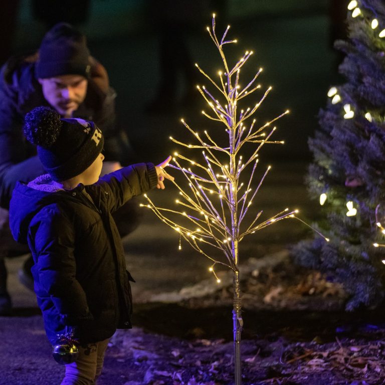
M 341 286 L 289 258 L 249 269 L 242 341 L 244 384 L 385 383 L 382 310 L 346 313 Z M 136 306 L 111 339 L 101 377 L 125 385 L 232 384 L 231 288 Z

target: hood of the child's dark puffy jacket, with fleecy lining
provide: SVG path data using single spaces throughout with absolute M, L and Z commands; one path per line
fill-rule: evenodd
M 14 239 L 27 243 L 28 228 L 37 213 L 44 207 L 57 202 L 64 191 L 52 184 L 49 174 L 41 175 L 28 184 L 17 182 L 10 203 L 10 229 Z

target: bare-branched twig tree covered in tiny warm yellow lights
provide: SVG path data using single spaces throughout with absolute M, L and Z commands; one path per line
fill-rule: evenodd
M 225 147 L 221 146 L 214 135 L 210 135 L 207 131 L 200 134 L 191 129 L 182 119 L 183 125 L 193 135 L 196 144 L 186 144 L 172 137 L 170 139 L 188 149 L 203 150 L 202 163 L 179 153 L 175 153 L 173 157 L 174 164 L 171 164 L 171 167 L 180 170 L 188 180 L 189 188 L 187 188 L 187 191 L 174 182 L 179 190 L 179 199 L 176 200 L 176 203 L 185 211 L 159 208 L 147 196 L 148 205 L 143 206 L 150 208 L 164 223 L 177 231 L 179 236 L 186 240 L 195 250 L 209 258 L 212 261 L 210 271 L 213 272 L 218 281 L 220 280 L 215 271 L 216 265 L 223 265 L 232 269 L 234 273 L 235 382 L 238 385 L 241 383 L 240 342 L 243 327 L 239 277 L 239 243 L 245 236 L 266 228 L 272 223 L 285 218 L 294 218 L 297 211 L 285 209 L 267 220 L 258 222 L 262 214 L 261 210 L 246 225 L 244 224 L 250 205 L 271 168 L 268 166 L 257 186 L 252 187 L 259 151 L 266 143 L 283 143 L 282 141 L 270 140 L 276 129 L 276 127 L 271 128 L 271 126 L 272 123 L 289 111 L 283 112 L 260 127 L 256 127 L 255 120 L 250 122 L 253 114 L 267 97 L 271 87 L 262 94 L 260 100 L 254 103 L 253 107 L 241 109 L 240 101 L 260 89 L 261 86 L 255 82 L 262 72 L 262 68 L 245 87 L 241 87 L 239 82 L 240 70 L 253 52 L 246 51 L 235 66 L 230 68 L 223 48 L 226 44 L 236 43 L 237 41 L 225 40 L 229 28 L 230 26 L 227 27 L 222 39 L 218 40 L 215 31 L 215 15 L 212 29 L 207 28 L 223 62 L 223 71 L 218 73 L 219 82 L 215 82 L 204 70 L 196 65 L 219 95 L 217 99 L 214 93 L 205 86 L 198 86 L 199 92 L 212 111 L 210 114 L 205 111 L 202 112 L 207 118 L 225 126 L 227 135 L 223 135 L 225 132 L 223 130 L 221 132 L 221 141 L 223 142 L 223 136 L 226 136 L 227 144 Z M 246 122 L 248 123 L 246 124 Z M 252 147 L 251 156 L 248 159 L 243 159 L 240 151 L 246 144 Z M 187 163 L 188 166 L 184 167 L 182 165 L 184 163 Z M 248 181 L 241 182 L 241 174 L 247 175 Z M 170 219 L 170 216 L 173 218 L 175 216 L 179 217 L 180 221 Z M 220 250 L 224 255 L 224 260 L 213 258 L 207 248 Z

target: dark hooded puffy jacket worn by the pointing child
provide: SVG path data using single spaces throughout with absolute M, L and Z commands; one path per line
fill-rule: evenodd
M 46 174 L 17 184 L 11 231 L 32 251 L 35 292 L 51 343 L 66 325 L 77 326 L 80 342 L 101 341 L 116 328 L 131 327 L 132 278 L 111 213 L 155 187 L 156 170 L 152 163 L 134 164 L 69 191 L 50 182 Z

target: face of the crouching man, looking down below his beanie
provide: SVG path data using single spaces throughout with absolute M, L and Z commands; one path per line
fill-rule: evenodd
M 86 97 L 88 81 L 81 75 L 60 75 L 39 83 L 47 102 L 64 118 L 72 117 Z

